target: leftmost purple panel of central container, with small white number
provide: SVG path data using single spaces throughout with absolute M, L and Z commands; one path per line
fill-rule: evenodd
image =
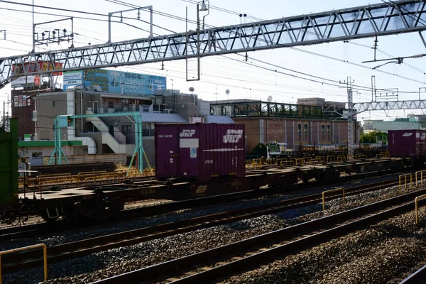
M 155 175 L 157 178 L 179 176 L 178 125 L 155 126 Z

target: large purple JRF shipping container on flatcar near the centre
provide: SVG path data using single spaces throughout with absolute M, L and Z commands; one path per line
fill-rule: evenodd
M 210 180 L 245 175 L 243 124 L 155 125 L 155 175 Z

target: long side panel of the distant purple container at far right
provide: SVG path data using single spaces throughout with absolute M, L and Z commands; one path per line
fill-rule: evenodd
M 388 131 L 389 154 L 391 157 L 410 157 L 416 155 L 416 130 Z

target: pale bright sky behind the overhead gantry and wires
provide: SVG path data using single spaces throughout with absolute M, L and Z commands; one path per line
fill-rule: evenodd
M 197 10 L 194 0 L 16 0 L 8 4 L 0 0 L 0 58 L 29 53 L 32 49 L 32 6 L 33 4 L 36 32 L 53 31 L 64 28 L 71 31 L 71 21 L 39 24 L 73 17 L 75 46 L 106 43 L 108 40 L 107 14 L 123 11 L 129 8 L 126 4 L 138 6 L 153 6 L 153 33 L 166 35 L 195 30 Z M 114 3 L 113 3 L 114 2 Z M 239 23 L 249 23 L 261 20 L 271 20 L 287 16 L 318 13 L 344 9 L 354 6 L 383 3 L 381 0 L 246 0 L 226 1 L 210 0 L 209 14 L 205 16 L 205 26 L 220 27 Z M 70 9 L 73 11 L 57 11 L 50 8 Z M 17 11 L 13 11 L 13 10 Z M 42 13 L 51 13 L 46 15 Z M 105 16 L 94 15 L 92 13 Z M 239 14 L 246 14 L 240 17 Z M 114 13 L 119 16 L 120 13 Z M 116 18 L 111 23 L 111 41 L 147 38 L 149 30 L 149 14 L 141 11 L 138 20 L 137 11 L 122 13 L 123 21 Z M 204 16 L 205 13 L 201 13 Z M 81 17 L 81 18 L 78 18 Z M 185 22 L 185 18 L 190 23 Z M 101 21 L 94 21 L 94 19 Z M 6 40 L 4 32 L 6 30 Z M 329 86 L 321 82 L 302 80 L 291 75 L 303 72 L 307 75 L 327 78 L 329 80 L 346 81 L 348 77 L 354 84 L 364 87 L 354 92 L 354 102 L 371 102 L 371 80 L 376 80 L 377 89 L 389 89 L 388 94 L 397 92 L 399 99 L 417 99 L 419 89 L 421 98 L 426 99 L 426 58 L 405 59 L 403 65 L 388 64 L 373 70 L 378 63 L 362 63 L 373 60 L 374 38 L 351 40 L 349 43 L 324 43 L 321 45 L 301 46 L 297 48 L 278 48 L 248 53 L 249 59 L 244 60 L 244 53 L 239 55 L 210 56 L 201 60 L 201 80 L 187 82 L 185 61 L 175 60 L 145 65 L 119 67 L 119 70 L 141 72 L 149 75 L 168 77 L 168 89 L 180 89 L 181 92 L 194 93 L 206 100 L 216 99 L 262 99 L 272 97 L 273 102 L 296 103 L 297 98 L 323 97 L 330 101 L 346 102 L 346 84 L 342 87 Z M 36 51 L 65 49 L 70 43 L 53 43 L 40 45 Z M 425 53 L 425 45 L 418 33 L 388 35 L 378 38 L 377 59 L 412 56 Z M 163 70 L 161 70 L 163 69 Z M 275 71 L 276 70 L 276 71 Z M 302 75 L 301 77 L 312 79 Z M 58 78 L 58 84 L 62 84 Z M 229 89 L 229 94 L 226 94 Z M 0 89 L 0 104 L 10 97 L 10 84 Z M 379 94 L 382 94 L 381 92 Z M 383 96 L 386 92 L 383 91 Z M 2 109 L 0 107 L 0 112 Z M 406 114 L 422 111 L 368 111 L 358 115 L 358 119 L 394 119 Z

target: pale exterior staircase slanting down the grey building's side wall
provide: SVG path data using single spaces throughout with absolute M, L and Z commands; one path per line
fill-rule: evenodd
M 86 110 L 86 114 L 94 114 L 93 111 Z M 135 149 L 135 144 L 126 144 L 126 136 L 124 136 L 121 131 L 117 131 L 114 128 L 114 136 L 120 136 L 121 141 L 124 143 L 119 143 L 117 139 L 109 133 L 109 127 L 107 124 L 102 121 L 99 117 L 87 117 L 86 121 L 92 122 L 94 127 L 96 127 L 102 133 L 102 144 L 107 144 L 109 148 L 116 154 L 128 154 L 131 155 Z

